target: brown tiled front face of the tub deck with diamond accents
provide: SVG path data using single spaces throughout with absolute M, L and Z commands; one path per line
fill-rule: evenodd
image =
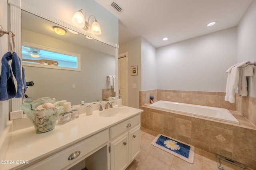
M 256 127 L 236 111 L 241 125 L 142 107 L 141 126 L 256 169 Z

